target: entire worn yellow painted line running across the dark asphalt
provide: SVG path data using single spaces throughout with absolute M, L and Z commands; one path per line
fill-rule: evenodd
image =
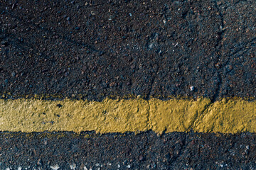
M 256 101 L 0 99 L 0 131 L 256 132 Z

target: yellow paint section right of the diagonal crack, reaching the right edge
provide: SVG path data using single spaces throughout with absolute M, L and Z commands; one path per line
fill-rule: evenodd
M 223 98 L 201 114 L 193 129 L 197 132 L 256 132 L 256 102 Z

